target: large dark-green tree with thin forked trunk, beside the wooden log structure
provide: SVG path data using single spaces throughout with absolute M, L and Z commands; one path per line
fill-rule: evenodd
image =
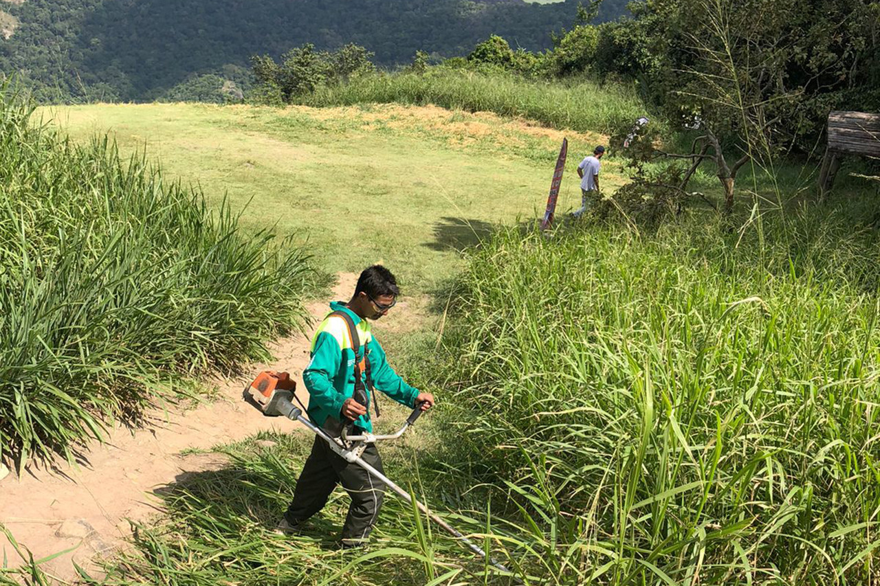
M 657 28 L 668 43 L 665 53 L 654 50 L 664 58 L 654 77 L 667 92 L 665 109 L 673 120 L 700 122 L 693 168 L 703 158 L 715 162 L 726 209 L 739 168 L 797 145 L 810 150 L 830 106 L 846 105 L 856 86 L 869 99 L 849 104 L 880 106 L 877 86 L 870 85 L 880 57 L 876 6 L 862 0 L 649 1 L 646 13 L 664 23 Z

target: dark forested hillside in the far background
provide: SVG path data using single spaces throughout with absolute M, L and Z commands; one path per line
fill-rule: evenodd
M 41 99 L 153 99 L 193 73 L 246 76 L 254 54 L 280 55 L 306 42 L 333 49 L 354 42 L 381 65 L 415 51 L 466 55 L 490 34 L 514 47 L 549 48 L 570 27 L 578 0 L 26 0 L 0 39 L 0 68 L 17 72 Z M 605 0 L 599 19 L 626 0 Z

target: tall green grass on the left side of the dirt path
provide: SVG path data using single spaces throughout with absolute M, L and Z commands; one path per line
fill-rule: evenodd
M 267 356 L 301 324 L 302 253 L 104 138 L 0 97 L 0 456 L 99 437 L 180 375 Z

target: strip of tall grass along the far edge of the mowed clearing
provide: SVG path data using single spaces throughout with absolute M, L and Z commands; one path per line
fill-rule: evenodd
M 494 112 L 539 121 L 554 128 L 611 133 L 628 128 L 645 106 L 632 88 L 582 81 L 529 81 L 501 73 L 444 70 L 425 74 L 377 73 L 345 84 L 320 87 L 304 97 L 308 106 L 353 106 L 371 102 L 435 104 L 469 112 Z

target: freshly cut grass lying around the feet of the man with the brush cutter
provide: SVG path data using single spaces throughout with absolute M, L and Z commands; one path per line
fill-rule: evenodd
M 285 454 L 288 456 L 289 454 Z M 154 490 L 165 504 L 164 523 L 137 525 L 136 553 L 109 568 L 117 586 L 181 575 L 198 586 L 216 583 L 329 583 L 353 574 L 367 583 L 414 585 L 428 577 L 422 563 L 400 555 L 411 545 L 406 505 L 391 504 L 378 523 L 378 536 L 365 550 L 340 551 L 338 537 L 348 497 L 337 489 L 327 508 L 292 536 L 273 530 L 287 507 L 299 466 L 262 453 L 234 458 L 229 467 L 183 472 Z M 334 498 L 335 497 L 335 498 Z M 447 549 L 458 552 L 454 542 Z M 368 555 L 369 559 L 362 556 Z M 268 579 L 268 582 L 267 582 Z

